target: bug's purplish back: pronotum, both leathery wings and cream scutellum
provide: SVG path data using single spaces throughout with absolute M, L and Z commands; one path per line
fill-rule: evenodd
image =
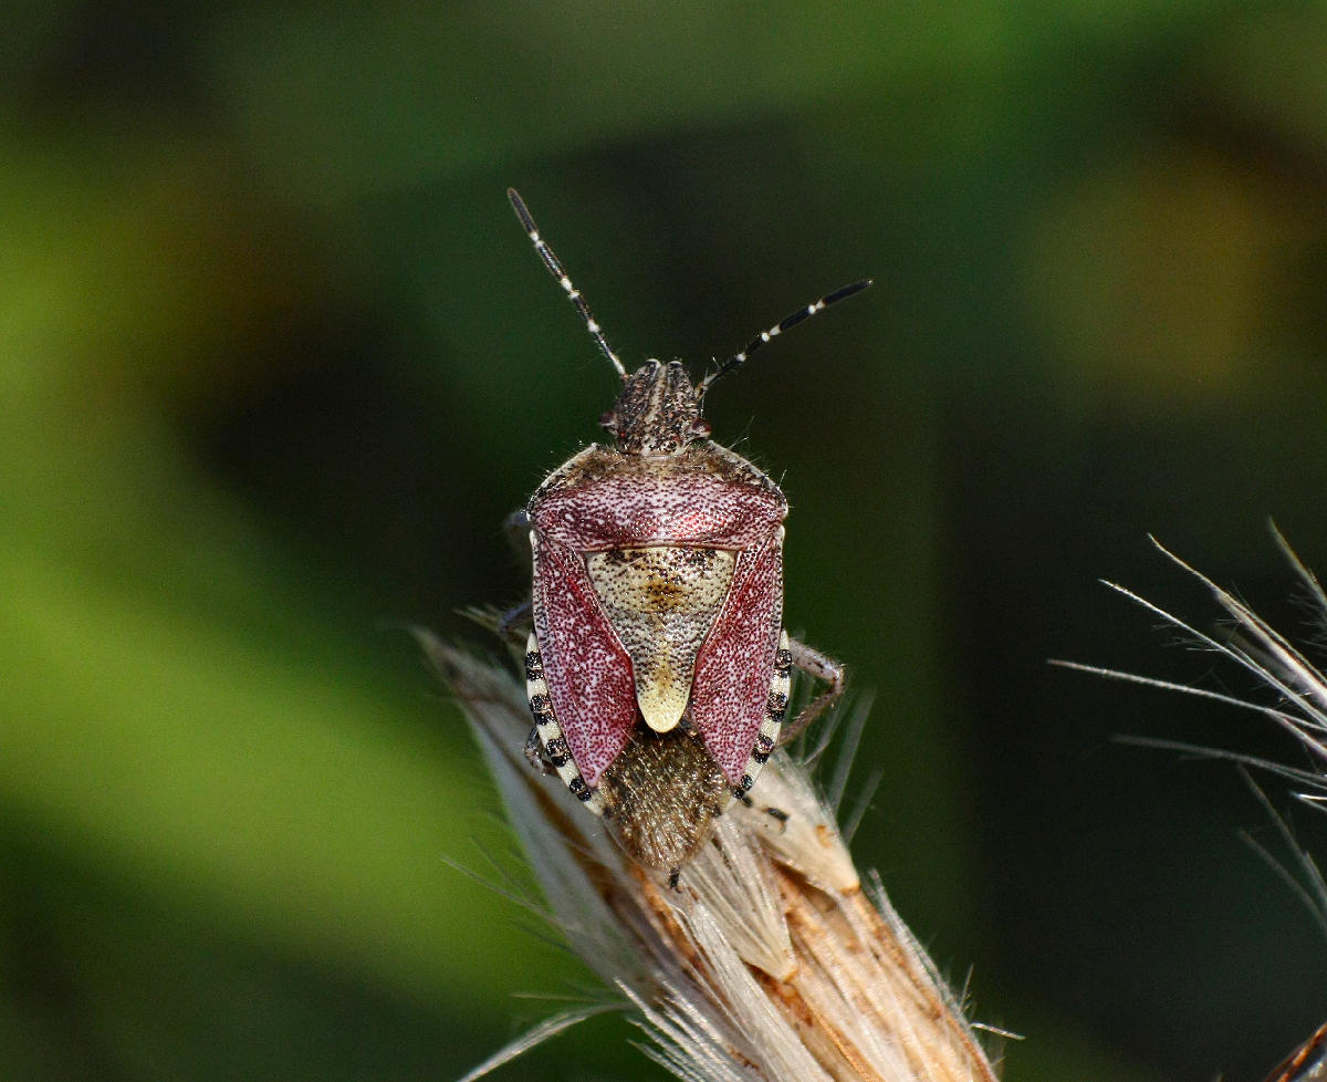
M 788 504 L 778 486 L 711 442 L 654 458 L 592 445 L 552 473 L 527 510 L 535 632 L 553 712 L 587 785 L 626 745 L 637 693 L 664 732 L 689 685 L 706 747 L 740 785 L 767 713 L 783 607 Z M 733 554 L 731 571 L 719 554 Z M 649 566 L 614 566 L 637 559 Z M 686 571 L 687 559 L 706 566 Z M 722 608 L 711 595 L 718 584 L 727 585 Z

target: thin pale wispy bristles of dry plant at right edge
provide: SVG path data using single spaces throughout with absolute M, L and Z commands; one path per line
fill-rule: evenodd
M 1275 526 L 1271 527 L 1271 531 L 1298 579 L 1300 592 L 1303 593 L 1302 600 L 1316 625 L 1316 635 L 1322 636 L 1327 633 L 1327 593 L 1323 592 L 1318 578 L 1295 555 Z M 1200 631 L 1190 621 L 1173 616 L 1123 585 L 1116 583 L 1105 583 L 1105 585 L 1158 616 L 1166 625 L 1178 631 L 1189 645 L 1226 657 L 1251 673 L 1259 684 L 1274 692 L 1275 701 L 1273 704 L 1261 704 L 1213 692 L 1206 688 L 1194 688 L 1169 680 L 1156 680 L 1136 673 L 1103 669 L 1072 661 L 1055 661 L 1054 664 L 1096 676 L 1105 676 L 1112 680 L 1127 680 L 1133 684 L 1182 692 L 1184 694 L 1197 696 L 1261 714 L 1279 729 L 1290 733 L 1299 742 L 1307 753 L 1307 766 L 1290 766 L 1271 759 L 1245 755 L 1238 751 L 1194 747 L 1162 739 L 1129 738 L 1129 742 L 1198 753 L 1237 762 L 1241 767 L 1267 771 L 1289 781 L 1294 786 L 1294 795 L 1299 801 L 1318 811 L 1327 811 L 1327 677 L 1324 677 L 1322 669 L 1299 647 L 1273 628 L 1243 601 L 1164 548 L 1156 539 L 1153 539 L 1153 544 L 1210 591 L 1220 608 L 1233 621 L 1229 628 L 1223 629 L 1220 636 L 1209 635 Z M 1281 842 L 1292 854 L 1294 864 L 1287 867 L 1251 839 L 1249 839 L 1250 844 L 1254 846 L 1258 854 L 1304 903 L 1319 928 L 1322 928 L 1323 935 L 1327 936 L 1327 879 L 1323 878 L 1322 870 L 1312 855 L 1300 848 L 1285 819 L 1277 814 L 1262 790 L 1255 785 L 1253 785 L 1253 789 L 1275 823 Z M 1267 1082 L 1314 1082 L 1323 1078 L 1327 1078 L 1327 1025 L 1315 1030 L 1300 1049 L 1291 1053 L 1281 1066 L 1274 1069 Z

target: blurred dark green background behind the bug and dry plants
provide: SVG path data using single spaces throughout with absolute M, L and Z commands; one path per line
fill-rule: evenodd
M 446 1079 L 584 992 L 446 863 L 518 860 L 397 629 L 482 641 L 613 394 L 507 185 L 628 364 L 874 276 L 710 404 L 876 692 L 860 858 L 1011 1082 L 1261 1078 L 1327 941 L 1112 735 L 1292 749 L 1046 665 L 1255 693 L 1097 576 L 1299 632 L 1265 518 L 1327 568 L 1327 12 L 1197 0 L 8 5 L 0 1077 Z

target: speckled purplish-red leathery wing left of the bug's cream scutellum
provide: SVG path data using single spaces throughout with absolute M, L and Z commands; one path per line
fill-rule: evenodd
M 545 658 L 553 714 L 581 777 L 600 774 L 636 724 L 632 662 L 600 607 L 584 558 L 548 538 L 535 544 L 535 637 Z

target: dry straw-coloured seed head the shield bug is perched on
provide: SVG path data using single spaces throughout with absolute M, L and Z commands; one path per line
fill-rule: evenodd
M 507 669 L 418 637 L 464 708 L 551 920 L 618 989 L 648 1055 L 687 1082 L 995 1082 L 958 1001 L 878 879 L 863 886 L 786 753 L 760 777 L 760 805 L 734 803 L 671 889 L 525 762 L 529 714 Z M 548 1020 L 463 1082 L 604 1009 Z

